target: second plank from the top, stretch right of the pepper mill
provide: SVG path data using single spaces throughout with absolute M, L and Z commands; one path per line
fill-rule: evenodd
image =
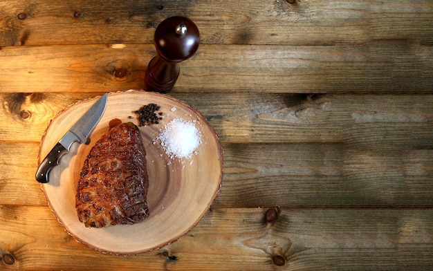
M 210 62 L 211 60 L 211 62 Z M 201 46 L 176 89 L 261 93 L 431 93 L 432 46 L 408 40 L 336 46 Z

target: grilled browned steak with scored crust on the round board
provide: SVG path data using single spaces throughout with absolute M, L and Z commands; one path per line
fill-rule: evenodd
M 138 127 L 111 127 L 84 161 L 75 207 L 86 227 L 135 224 L 149 216 L 146 151 Z

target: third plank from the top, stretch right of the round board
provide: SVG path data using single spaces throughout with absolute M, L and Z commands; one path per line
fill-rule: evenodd
M 223 142 L 340 142 L 353 149 L 432 142 L 432 95 L 212 93 L 205 104 L 201 95 L 174 95 L 199 109 Z

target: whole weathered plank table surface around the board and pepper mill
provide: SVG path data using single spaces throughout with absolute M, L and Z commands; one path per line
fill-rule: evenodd
M 289 3 L 293 2 L 293 3 Z M 163 19 L 201 31 L 169 93 L 223 145 L 181 239 L 101 254 L 57 222 L 39 140 L 69 104 L 143 88 Z M 428 270 L 433 1 L 0 1 L 1 270 Z

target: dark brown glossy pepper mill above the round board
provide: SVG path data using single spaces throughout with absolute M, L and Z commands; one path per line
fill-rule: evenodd
M 156 28 L 154 41 L 158 55 L 147 66 L 145 85 L 148 91 L 167 93 L 179 76 L 179 62 L 199 48 L 199 28 L 186 17 L 169 17 Z

